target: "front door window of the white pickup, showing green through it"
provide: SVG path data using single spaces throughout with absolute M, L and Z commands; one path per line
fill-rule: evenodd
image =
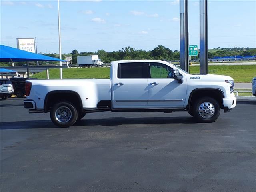
M 151 78 L 172 78 L 172 68 L 162 63 L 150 63 Z

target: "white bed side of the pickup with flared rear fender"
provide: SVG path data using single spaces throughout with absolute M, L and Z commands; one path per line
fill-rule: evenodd
M 52 91 L 76 92 L 84 109 L 96 109 L 98 102 L 111 100 L 110 79 L 63 79 L 63 80 L 27 80 L 32 83 L 27 99 L 37 101 L 37 109 L 44 109 L 44 99 Z

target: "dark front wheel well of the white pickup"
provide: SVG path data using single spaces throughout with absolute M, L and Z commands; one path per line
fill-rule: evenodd
M 190 93 L 189 100 L 188 100 L 188 105 L 187 105 L 187 110 L 189 111 L 190 108 L 192 108 L 194 102 L 198 100 L 199 98 L 202 97 L 211 97 L 217 100 L 217 102 L 220 105 L 220 108 L 223 109 L 223 98 L 224 94 L 222 90 L 220 89 L 198 89 L 198 90 L 193 90 Z

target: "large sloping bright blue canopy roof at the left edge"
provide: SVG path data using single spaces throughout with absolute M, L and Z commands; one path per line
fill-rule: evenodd
M 16 48 L 0 45 L 0 62 L 20 62 L 20 61 L 65 61 L 58 58 L 31 53 Z

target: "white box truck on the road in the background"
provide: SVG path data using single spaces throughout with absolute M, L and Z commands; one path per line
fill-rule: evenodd
M 78 56 L 77 64 L 80 67 L 103 67 L 103 62 L 99 59 L 98 55 Z

